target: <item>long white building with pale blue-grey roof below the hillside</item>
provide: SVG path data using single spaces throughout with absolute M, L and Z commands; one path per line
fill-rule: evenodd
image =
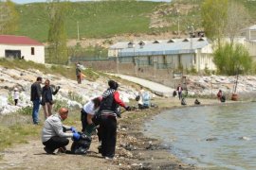
M 109 48 L 108 57 L 118 57 L 120 62 L 134 62 L 138 66 L 152 65 L 158 69 L 216 69 L 212 47 L 206 38 L 118 42 Z

